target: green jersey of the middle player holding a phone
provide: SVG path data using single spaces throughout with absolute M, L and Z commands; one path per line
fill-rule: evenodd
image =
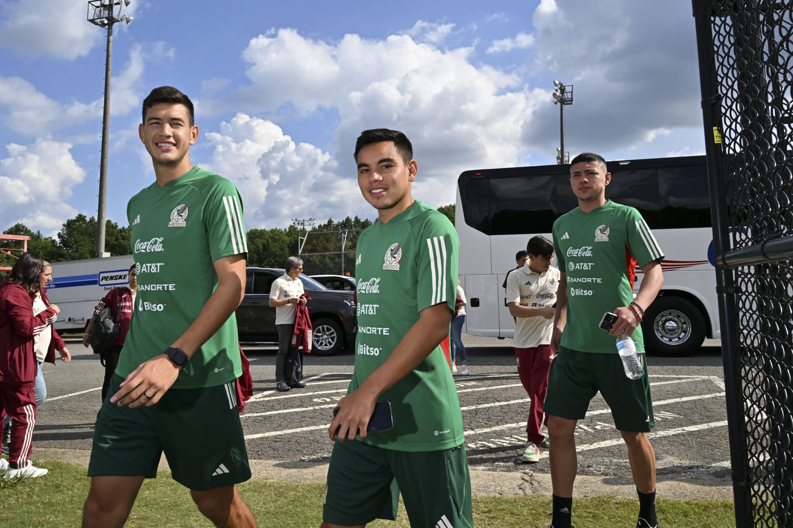
M 358 337 L 347 393 L 389 358 L 419 312 L 435 304 L 454 312 L 459 247 L 446 216 L 420 201 L 361 233 L 355 260 Z M 397 451 L 462 445 L 460 400 L 440 346 L 380 400 L 391 402 L 393 429 L 362 442 Z

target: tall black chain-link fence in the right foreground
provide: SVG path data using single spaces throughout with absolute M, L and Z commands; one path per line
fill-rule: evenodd
M 692 4 L 736 521 L 793 527 L 793 0 Z

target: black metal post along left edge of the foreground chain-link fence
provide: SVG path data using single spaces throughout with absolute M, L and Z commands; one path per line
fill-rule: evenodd
M 691 2 L 696 25 L 699 55 L 699 86 L 702 94 L 705 151 L 707 155 L 708 185 L 711 193 L 714 253 L 722 255 L 730 250 L 730 229 L 727 224 L 726 186 L 722 177 L 722 116 L 718 94 L 718 79 L 714 67 L 710 4 L 706 0 Z M 741 362 L 738 357 L 737 316 L 732 270 L 716 268 L 718 314 L 722 329 L 722 360 L 727 407 L 727 432 L 730 440 L 733 498 L 737 526 L 752 526 L 751 490 L 747 486 L 749 457 L 744 449 L 746 424 L 741 397 Z

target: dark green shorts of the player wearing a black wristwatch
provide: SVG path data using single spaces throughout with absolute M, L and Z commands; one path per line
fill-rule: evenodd
M 234 382 L 170 390 L 152 407 L 110 402 L 113 374 L 94 426 L 88 476 L 155 478 L 163 451 L 179 484 L 202 492 L 251 478 Z

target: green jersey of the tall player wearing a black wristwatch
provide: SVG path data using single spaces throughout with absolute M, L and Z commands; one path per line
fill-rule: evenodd
M 135 312 L 116 373 L 126 377 L 163 354 L 198 317 L 217 287 L 213 262 L 246 254 L 243 206 L 232 182 L 194 166 L 137 193 L 127 205 L 138 278 Z M 232 315 L 171 388 L 223 385 L 242 375 Z

